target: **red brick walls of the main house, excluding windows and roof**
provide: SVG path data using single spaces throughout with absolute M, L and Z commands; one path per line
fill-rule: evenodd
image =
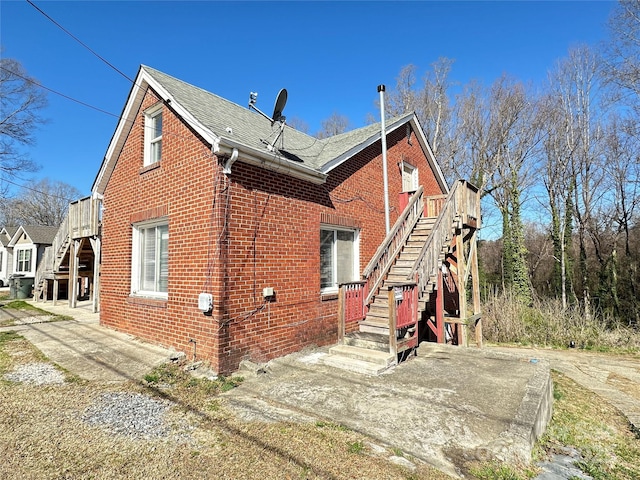
M 148 95 L 144 109 L 155 99 Z M 320 295 L 320 223 L 360 228 L 360 270 L 385 236 L 380 143 L 334 169 L 324 185 L 249 166 L 230 178 L 210 148 L 168 107 L 162 162 L 142 167 L 143 114 L 133 127 L 105 191 L 101 321 L 193 354 L 222 373 L 244 358 L 266 361 L 337 338 L 337 300 Z M 391 222 L 398 216 L 398 164 L 418 167 L 427 194 L 441 193 L 419 143 L 404 128 L 388 147 Z M 168 300 L 131 292 L 131 224 L 169 219 Z M 275 298 L 265 303 L 264 287 Z M 197 308 L 214 296 L 212 316 Z

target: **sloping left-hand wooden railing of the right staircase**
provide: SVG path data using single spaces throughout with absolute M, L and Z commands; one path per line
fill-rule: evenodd
M 420 187 L 409 200 L 407 208 L 404 209 L 393 228 L 389 231 L 382 244 L 376 250 L 375 255 L 362 272 L 362 278 L 367 283 L 367 295 L 364 299 L 365 305 L 380 289 L 384 278 L 393 265 L 394 260 L 399 255 L 400 250 L 407 242 L 409 235 L 413 231 L 416 223 L 422 216 L 423 210 L 423 187 Z

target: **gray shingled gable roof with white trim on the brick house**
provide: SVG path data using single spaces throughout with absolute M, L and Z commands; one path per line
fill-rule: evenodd
M 247 107 L 142 65 L 94 181 L 94 193 L 104 193 L 148 87 L 198 132 L 212 146 L 214 153 L 231 156 L 237 150 L 238 161 L 313 183 L 324 183 L 333 168 L 381 137 L 380 123 L 326 139 L 318 139 L 285 126 L 276 148 L 268 149 L 267 144 L 279 132 L 278 122 L 271 125 L 267 119 Z M 386 124 L 387 134 L 407 123 L 412 124 L 441 187 L 448 191 L 444 176 L 413 113 L 389 120 Z

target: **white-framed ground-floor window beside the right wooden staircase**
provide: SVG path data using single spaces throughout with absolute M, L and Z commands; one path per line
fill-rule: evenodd
M 359 270 L 358 232 L 322 226 L 320 228 L 320 288 L 337 291 L 338 285 L 357 279 Z

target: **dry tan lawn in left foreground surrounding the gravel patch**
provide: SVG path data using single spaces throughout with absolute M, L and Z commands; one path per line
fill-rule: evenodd
M 42 358 L 22 337 L 0 333 L 0 378 Z M 450 478 L 426 465 L 400 467 L 388 459 L 400 452 L 379 452 L 338 425 L 237 421 L 218 395 L 237 379 L 194 380 L 174 368 L 140 384 L 69 380 L 39 387 L 0 380 L 0 478 Z M 169 421 L 178 436 L 132 439 L 87 425 L 87 408 L 116 391 L 174 402 Z

